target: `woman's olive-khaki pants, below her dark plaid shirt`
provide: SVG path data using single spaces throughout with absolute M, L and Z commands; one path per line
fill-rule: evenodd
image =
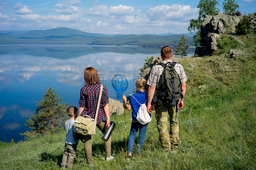
M 97 124 L 96 126 L 100 129 L 102 134 L 104 133 L 104 127 L 106 126 L 106 121 Z M 92 162 L 92 135 L 84 136 L 84 153 L 87 160 L 87 164 L 91 165 Z M 107 158 L 111 156 L 111 136 L 107 142 L 104 142 Z

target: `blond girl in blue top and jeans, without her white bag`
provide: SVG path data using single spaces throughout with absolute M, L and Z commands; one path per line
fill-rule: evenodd
M 130 136 L 128 140 L 128 156 L 132 156 L 132 148 L 134 145 L 134 138 L 137 135 L 138 129 L 139 130 L 139 144 L 140 147 L 138 149 L 138 156 L 141 156 L 141 151 L 144 145 L 145 141 L 145 135 L 148 128 L 148 123 L 143 125 L 140 122 L 136 120 L 137 117 L 137 111 L 140 107 L 139 103 L 146 103 L 146 106 L 148 105 L 148 93 L 147 93 L 147 85 L 146 80 L 144 78 L 138 78 L 135 83 L 136 86 L 136 92 L 131 95 L 131 98 L 127 102 L 127 99 L 125 96 L 123 96 L 123 101 L 125 103 L 125 106 L 128 110 L 132 110 L 132 126 L 130 131 Z M 137 101 L 136 101 L 137 100 Z M 152 110 L 156 110 L 156 107 L 152 101 Z M 150 115 L 150 114 L 149 114 Z M 150 115 L 151 117 L 151 115 Z

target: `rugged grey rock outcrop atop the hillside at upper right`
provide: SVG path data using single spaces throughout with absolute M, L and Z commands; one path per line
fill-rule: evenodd
M 217 51 L 217 39 L 220 35 L 235 35 L 236 26 L 243 18 L 241 11 L 237 10 L 233 14 L 223 14 L 217 12 L 216 16 L 206 15 L 201 26 L 201 42 L 202 46 L 197 46 L 195 55 L 204 56 L 212 55 Z M 256 29 L 256 13 L 249 16 L 251 26 L 250 29 Z

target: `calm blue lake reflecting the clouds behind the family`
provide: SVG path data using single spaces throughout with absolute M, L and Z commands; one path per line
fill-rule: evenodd
M 116 99 L 111 78 L 124 75 L 127 95 L 135 89 L 147 56 L 160 55 L 160 47 L 88 45 L 0 45 L 0 140 L 23 140 L 26 119 L 36 102 L 52 87 L 69 106 L 78 107 L 84 69 L 95 68 L 110 98 Z M 194 55 L 195 48 L 187 49 Z

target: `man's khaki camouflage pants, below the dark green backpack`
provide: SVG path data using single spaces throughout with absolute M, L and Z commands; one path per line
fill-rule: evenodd
M 168 115 L 170 116 L 170 134 L 168 134 Z M 159 132 L 159 141 L 162 144 L 163 151 L 171 150 L 173 144 L 180 144 L 179 137 L 179 109 L 176 112 L 176 105 L 157 103 L 156 121 Z

